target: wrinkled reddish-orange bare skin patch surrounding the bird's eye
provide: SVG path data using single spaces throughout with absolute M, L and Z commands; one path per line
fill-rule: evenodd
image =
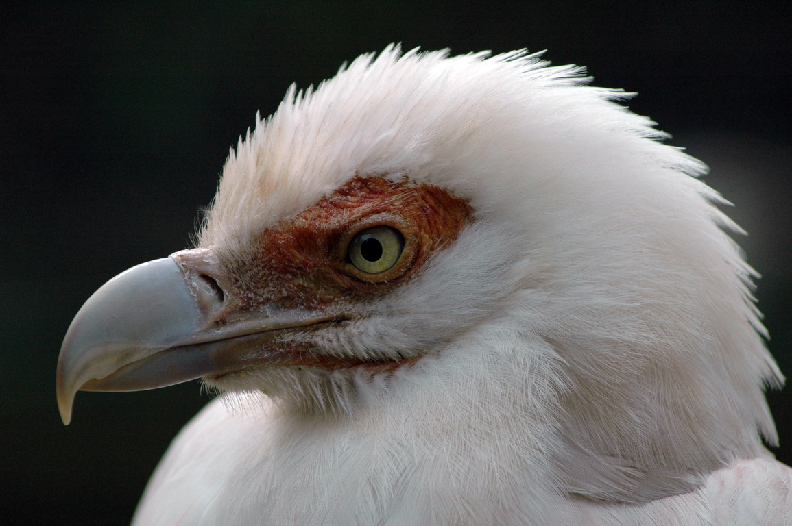
M 291 221 L 265 229 L 253 240 L 252 259 L 228 262 L 233 292 L 244 298 L 242 309 L 274 302 L 322 311 L 381 297 L 455 240 L 471 212 L 466 200 L 439 187 L 356 176 Z M 376 225 L 398 229 L 405 249 L 389 271 L 365 275 L 348 262 L 348 244 Z

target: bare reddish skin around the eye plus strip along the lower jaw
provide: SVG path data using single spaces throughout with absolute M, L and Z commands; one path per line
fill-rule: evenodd
M 356 306 L 392 292 L 420 272 L 432 254 L 456 239 L 470 223 L 471 214 L 465 199 L 439 187 L 356 176 L 294 218 L 265 229 L 251 240 L 252 252 L 219 262 L 220 272 L 216 272 L 219 268 L 202 271 L 201 263 L 183 258 L 183 265 L 211 273 L 223 289 L 223 308 L 211 316 L 215 324 L 232 324 L 252 312 L 266 313 L 268 308 L 304 309 L 311 318 L 322 320 L 230 340 L 230 363 L 220 368 L 226 372 L 215 379 L 272 365 L 388 370 L 414 361 L 383 363 L 329 356 L 288 336 L 355 318 Z M 398 229 L 405 246 L 394 267 L 366 274 L 348 261 L 348 245 L 361 230 L 377 225 Z

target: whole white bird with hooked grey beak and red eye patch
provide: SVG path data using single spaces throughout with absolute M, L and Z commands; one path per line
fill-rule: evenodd
M 742 230 L 586 75 L 390 45 L 257 115 L 196 246 L 63 341 L 64 423 L 219 393 L 133 524 L 792 524 Z

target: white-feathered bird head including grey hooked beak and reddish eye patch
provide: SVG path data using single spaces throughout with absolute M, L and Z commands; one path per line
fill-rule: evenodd
M 315 418 L 401 404 L 512 422 L 565 473 L 594 458 L 569 489 L 617 500 L 760 451 L 782 377 L 739 230 L 704 165 L 588 80 L 388 47 L 292 87 L 231 151 L 198 247 L 78 313 L 64 422 L 78 390 L 195 378 Z

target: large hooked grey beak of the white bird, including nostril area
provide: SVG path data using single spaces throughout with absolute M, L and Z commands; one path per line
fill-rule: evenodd
M 122 272 L 80 308 L 60 349 L 58 407 L 78 391 L 142 391 L 284 361 L 281 329 L 329 321 L 264 305 L 240 308 L 214 252 L 196 248 Z

